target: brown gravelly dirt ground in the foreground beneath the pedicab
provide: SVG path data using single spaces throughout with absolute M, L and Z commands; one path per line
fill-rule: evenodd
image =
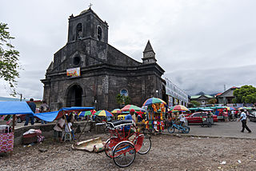
M 175 134 L 176 135 L 176 134 Z M 102 137 L 106 135 L 94 135 Z M 90 137 L 83 137 L 89 139 Z M 104 152 L 71 149 L 70 142 L 46 140 L 31 147 L 14 148 L 12 156 L 0 156 L 0 170 L 255 170 L 255 140 L 234 138 L 151 136 L 152 148 L 136 154 L 134 163 L 120 169 Z M 39 149 L 47 149 L 45 153 Z M 221 164 L 226 161 L 226 164 Z M 239 162 L 241 161 L 241 162 Z

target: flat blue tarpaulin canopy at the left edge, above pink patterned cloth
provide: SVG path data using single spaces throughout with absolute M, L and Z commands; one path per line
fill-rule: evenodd
M 0 115 L 33 114 L 26 101 L 0 101 Z

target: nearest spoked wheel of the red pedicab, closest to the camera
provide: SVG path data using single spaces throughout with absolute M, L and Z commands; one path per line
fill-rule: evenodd
M 121 168 L 127 167 L 134 162 L 136 151 L 134 145 L 130 141 L 119 142 L 114 147 L 113 152 L 114 164 Z

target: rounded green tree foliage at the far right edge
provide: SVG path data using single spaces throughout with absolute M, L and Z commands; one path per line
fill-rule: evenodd
M 234 89 L 234 103 L 256 103 L 256 88 L 252 85 L 243 85 Z

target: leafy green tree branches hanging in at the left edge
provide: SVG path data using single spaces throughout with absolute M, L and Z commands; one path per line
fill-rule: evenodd
M 19 77 L 18 69 L 20 69 L 19 52 L 10 44 L 10 40 L 14 38 L 10 36 L 8 29 L 7 24 L 0 22 L 0 78 L 9 82 L 11 95 L 15 95 L 16 79 Z

